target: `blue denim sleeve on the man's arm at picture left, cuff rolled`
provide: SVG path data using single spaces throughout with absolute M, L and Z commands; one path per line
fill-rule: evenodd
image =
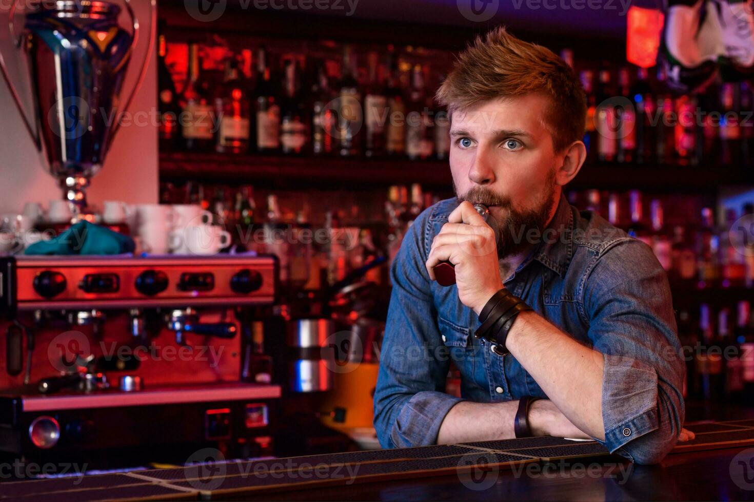
M 445 346 L 425 268 L 430 211 L 409 227 L 391 265 L 393 291 L 374 396 L 383 448 L 436 443 L 445 415 L 461 401 L 445 394 L 449 358 L 435 357 Z

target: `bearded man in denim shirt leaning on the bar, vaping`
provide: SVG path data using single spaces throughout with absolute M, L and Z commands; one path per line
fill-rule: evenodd
M 451 117 L 457 199 L 418 216 L 391 267 L 380 443 L 551 435 L 661 461 L 693 437 L 682 430 L 670 288 L 651 248 L 562 193 L 586 157 L 574 72 L 501 28 L 461 54 L 437 98 Z M 477 202 L 489 206 L 497 240 Z M 455 266 L 449 288 L 435 281 L 443 261 Z M 477 339 L 490 312 L 495 333 Z M 451 361 L 460 399 L 444 392 Z

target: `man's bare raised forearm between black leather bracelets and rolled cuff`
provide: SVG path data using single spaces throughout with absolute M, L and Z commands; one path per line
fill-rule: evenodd
M 605 440 L 601 353 L 535 312 L 518 315 L 505 345 L 563 415 L 591 437 Z

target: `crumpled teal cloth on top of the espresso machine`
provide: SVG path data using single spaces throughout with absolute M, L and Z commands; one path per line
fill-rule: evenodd
M 79 221 L 54 239 L 35 242 L 24 254 L 122 254 L 133 253 L 134 248 L 129 236 Z

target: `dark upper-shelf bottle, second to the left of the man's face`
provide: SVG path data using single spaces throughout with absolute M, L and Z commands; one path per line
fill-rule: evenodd
M 434 126 L 425 95 L 425 76 L 421 65 L 411 74 L 411 99 L 406 115 L 406 155 L 411 160 L 425 160 L 434 150 Z

